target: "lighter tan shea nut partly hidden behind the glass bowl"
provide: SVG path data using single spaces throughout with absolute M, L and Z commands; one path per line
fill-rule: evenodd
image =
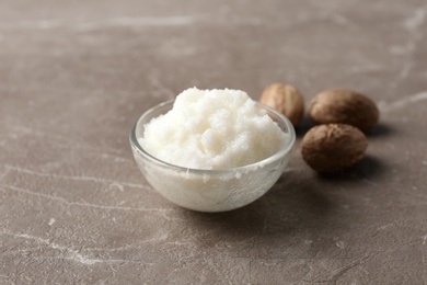
M 296 127 L 304 113 L 304 98 L 292 86 L 274 83 L 261 95 L 259 102 L 284 114 Z

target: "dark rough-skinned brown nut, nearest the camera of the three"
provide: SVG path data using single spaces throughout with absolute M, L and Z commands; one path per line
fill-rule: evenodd
M 302 158 L 319 172 L 334 172 L 361 160 L 368 140 L 358 128 L 345 124 L 320 125 L 302 139 Z

